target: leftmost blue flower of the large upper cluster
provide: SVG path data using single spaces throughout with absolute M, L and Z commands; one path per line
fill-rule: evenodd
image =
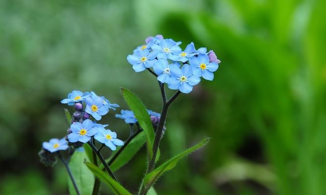
M 146 68 L 150 68 L 156 61 L 157 52 L 149 50 L 135 51 L 133 55 L 128 55 L 127 60 L 132 65 L 135 72 L 144 71 Z

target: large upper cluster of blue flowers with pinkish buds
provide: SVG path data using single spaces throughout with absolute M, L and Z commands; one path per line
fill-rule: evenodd
M 196 50 L 193 42 L 184 50 L 179 47 L 180 41 L 163 39 L 162 35 L 149 37 L 145 42 L 127 57 L 133 70 L 141 72 L 153 68 L 157 80 L 182 93 L 190 93 L 200 77 L 213 80 L 221 62 L 214 51 L 207 52 L 205 47 Z

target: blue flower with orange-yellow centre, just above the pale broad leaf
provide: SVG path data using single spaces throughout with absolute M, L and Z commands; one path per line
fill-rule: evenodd
M 93 128 L 93 122 L 89 119 L 84 120 L 83 123 L 74 122 L 70 125 L 72 133 L 68 135 L 68 140 L 71 143 L 80 141 L 86 143 L 90 137 L 97 133 L 98 129 Z

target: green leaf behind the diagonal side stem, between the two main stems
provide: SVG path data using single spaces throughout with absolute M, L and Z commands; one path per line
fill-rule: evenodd
M 138 150 L 145 144 L 146 134 L 145 132 L 140 132 L 136 137 L 134 137 L 126 148 L 120 153 L 120 155 L 113 161 L 110 165 L 111 170 L 117 171 L 122 166 L 127 164 L 129 160 L 138 152 Z M 118 150 L 116 150 L 118 151 Z M 116 152 L 115 152 L 116 153 Z M 113 153 L 111 156 L 114 156 Z

